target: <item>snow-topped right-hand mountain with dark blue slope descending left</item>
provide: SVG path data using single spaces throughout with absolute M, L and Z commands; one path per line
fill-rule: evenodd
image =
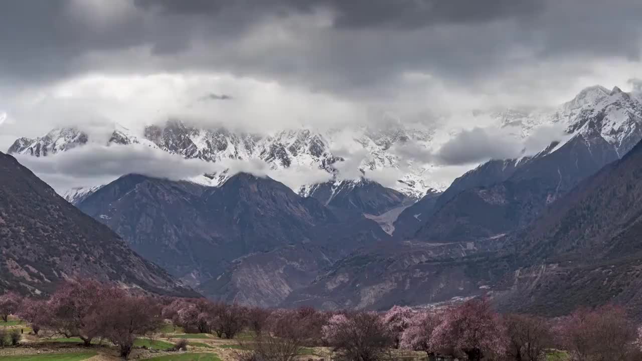
M 520 159 L 489 161 L 437 198 L 424 225 L 397 232 L 433 242 L 500 236 L 533 220 L 582 179 L 642 139 L 642 103 L 617 87 L 585 89 L 562 109 L 570 139 Z M 410 210 L 408 210 L 410 211 Z M 409 218 L 402 215 L 400 218 Z

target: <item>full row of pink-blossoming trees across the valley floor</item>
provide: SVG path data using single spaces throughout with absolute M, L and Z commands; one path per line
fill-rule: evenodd
M 546 349 L 564 349 L 577 361 L 642 360 L 638 331 L 622 308 L 581 309 L 559 319 L 499 315 L 485 299 L 444 310 L 395 306 L 386 313 L 320 312 L 314 308 L 268 310 L 205 299 L 152 298 L 126 294 L 96 281 L 66 283 L 47 301 L 0 296 L 0 317 L 10 314 L 78 337 L 89 346 L 110 340 L 127 357 L 136 337 L 158 331 L 170 319 L 187 333 L 232 339 L 252 330 L 256 339 L 239 361 L 292 361 L 304 347 L 329 346 L 342 360 L 377 361 L 396 349 L 478 360 L 544 360 Z M 241 341 L 242 342 L 242 341 Z

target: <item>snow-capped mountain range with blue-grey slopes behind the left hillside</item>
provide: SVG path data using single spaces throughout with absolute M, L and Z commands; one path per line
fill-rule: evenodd
M 492 159 L 443 187 L 427 176 L 433 165 L 413 168 L 395 152 L 406 141 L 428 148 L 438 137 L 431 130 L 361 129 L 351 139 L 367 154 L 364 176 L 341 180 L 332 132 L 253 136 L 173 121 L 147 127 L 143 137 L 115 130 L 109 144 L 214 162 L 257 158 L 334 178 L 293 191 L 248 173 L 209 175 L 209 182 L 125 175 L 68 199 L 213 299 L 385 309 L 489 294 L 506 310 L 560 314 L 612 297 L 642 310 L 635 301 L 638 96 L 594 86 L 556 109 L 490 116 L 517 137 L 546 124 L 566 136 L 535 154 Z M 49 157 L 89 141 L 80 130 L 55 130 L 18 139 L 10 152 Z M 386 167 L 407 169 L 393 188 L 367 177 Z M 564 301 L 564 289 L 577 297 Z

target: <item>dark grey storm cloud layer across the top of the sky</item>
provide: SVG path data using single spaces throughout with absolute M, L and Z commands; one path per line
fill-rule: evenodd
M 288 22 L 323 10 L 329 26 Z M 473 87 L 540 62 L 635 59 L 641 17 L 632 0 L 2 1 L 0 80 L 217 71 L 369 96 L 422 72 Z M 252 33 L 265 23 L 277 29 Z

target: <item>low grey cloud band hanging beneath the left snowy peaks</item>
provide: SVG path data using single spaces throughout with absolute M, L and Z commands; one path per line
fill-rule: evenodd
M 64 193 L 71 188 L 108 184 L 122 175 L 137 173 L 148 177 L 184 180 L 205 173 L 252 173 L 257 177 L 271 177 L 298 191 L 304 184 L 325 182 L 331 175 L 324 170 L 294 166 L 272 170 L 260 159 L 223 159 L 209 163 L 200 159 L 184 159 L 147 146 L 85 145 L 49 157 L 14 155 L 20 163 L 38 175 L 56 191 Z

